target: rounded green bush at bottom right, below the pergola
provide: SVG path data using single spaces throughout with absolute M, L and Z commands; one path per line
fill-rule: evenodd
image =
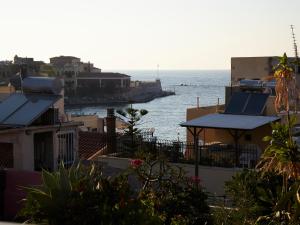
M 282 177 L 261 175 L 255 170 L 243 170 L 226 182 L 225 190 L 237 211 L 232 217 L 253 224 L 259 216 L 268 215 L 281 194 Z

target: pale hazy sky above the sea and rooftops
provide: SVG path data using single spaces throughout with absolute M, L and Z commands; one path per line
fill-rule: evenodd
M 0 60 L 58 55 L 103 70 L 230 69 L 294 55 L 300 0 L 0 0 Z M 300 47 L 300 42 L 299 42 Z

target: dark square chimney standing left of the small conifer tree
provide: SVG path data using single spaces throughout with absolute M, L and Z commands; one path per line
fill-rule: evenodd
M 106 134 L 107 134 L 107 152 L 116 152 L 116 117 L 113 108 L 107 109 Z

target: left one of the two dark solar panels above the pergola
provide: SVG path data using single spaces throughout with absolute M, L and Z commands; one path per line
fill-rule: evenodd
M 226 114 L 243 114 L 250 93 L 234 92 L 225 109 Z

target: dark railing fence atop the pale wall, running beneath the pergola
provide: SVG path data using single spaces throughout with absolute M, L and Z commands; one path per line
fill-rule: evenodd
M 166 157 L 172 163 L 195 163 L 194 143 L 159 140 L 155 137 L 122 136 L 117 139 L 116 155 L 133 157 L 136 151 L 147 151 Z M 260 157 L 255 145 L 205 144 L 199 145 L 199 165 L 216 167 L 254 168 Z

